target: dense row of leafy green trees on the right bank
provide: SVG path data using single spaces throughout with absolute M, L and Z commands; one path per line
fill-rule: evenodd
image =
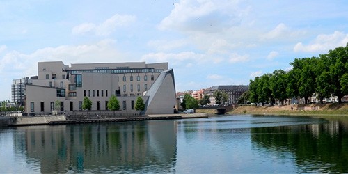
M 276 102 L 284 104 L 294 97 L 304 99 L 314 93 L 320 103 L 331 96 L 348 95 L 348 43 L 345 47 L 337 47 L 327 54 L 307 58 L 295 58 L 292 70 L 274 70 L 250 80 L 249 90 L 239 99 L 254 103 Z

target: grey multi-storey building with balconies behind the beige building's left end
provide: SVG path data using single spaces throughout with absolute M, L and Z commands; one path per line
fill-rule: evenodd
M 11 86 L 11 100 L 17 106 L 24 106 L 26 84 L 32 84 L 32 80 L 28 77 L 22 79 L 14 79 Z

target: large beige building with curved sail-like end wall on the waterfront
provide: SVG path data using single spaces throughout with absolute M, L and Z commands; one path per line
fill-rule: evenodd
M 168 63 L 39 62 L 38 77 L 26 85 L 27 113 L 52 113 L 56 100 L 60 111 L 81 111 L 84 97 L 95 111 L 108 110 L 111 95 L 120 102 L 120 113 L 136 115 L 136 98 L 145 102 L 145 114 L 173 113 L 175 81 Z

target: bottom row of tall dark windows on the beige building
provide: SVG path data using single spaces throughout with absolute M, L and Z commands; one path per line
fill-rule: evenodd
M 105 101 L 105 110 L 108 110 L 107 105 L 109 101 Z M 50 102 L 50 111 L 54 111 L 54 102 Z M 64 102 L 60 102 L 61 108 L 60 111 L 65 111 L 64 109 Z M 97 110 L 101 110 L 100 108 L 100 101 L 96 102 Z M 127 109 L 127 101 L 122 101 L 122 110 Z M 134 110 L 134 100 L 131 101 L 131 109 Z M 74 111 L 74 102 L 69 102 L 69 110 Z M 30 102 L 30 111 L 33 113 L 35 112 L 35 103 Z M 45 111 L 45 102 L 40 102 L 40 111 L 44 112 Z M 82 111 L 82 101 L 79 101 L 79 111 Z

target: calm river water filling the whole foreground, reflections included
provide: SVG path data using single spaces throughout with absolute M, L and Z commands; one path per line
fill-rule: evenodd
M 0 173 L 348 173 L 348 118 L 5 127 Z

